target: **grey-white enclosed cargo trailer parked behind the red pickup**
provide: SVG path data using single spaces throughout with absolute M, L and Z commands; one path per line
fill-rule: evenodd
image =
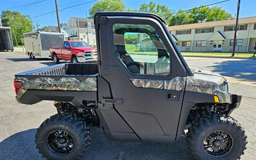
M 50 46 L 61 46 L 64 42 L 63 33 L 35 31 L 24 33 L 23 36 L 29 58 L 50 57 Z

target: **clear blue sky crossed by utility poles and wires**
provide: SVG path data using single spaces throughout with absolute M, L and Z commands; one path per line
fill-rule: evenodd
M 1 0 L 0 3 L 0 12 L 2 13 L 3 9 L 13 8 L 16 6 L 26 5 L 33 2 L 39 2 L 42 0 Z M 58 0 L 59 10 L 78 5 L 80 3 L 89 2 L 91 0 Z M 141 3 L 149 3 L 153 1 L 161 5 L 166 5 L 171 10 L 178 9 L 190 9 L 194 6 L 208 5 L 210 3 L 220 2 L 222 0 L 123 0 L 126 4 L 126 7 L 129 9 L 138 9 L 140 8 Z M 89 9 L 93 6 L 94 2 L 76 6 L 74 8 L 69 8 L 61 11 L 60 22 L 68 23 L 70 17 L 86 17 L 86 13 L 89 15 Z M 221 6 L 225 9 L 226 12 L 231 13 L 234 17 L 237 11 L 237 0 L 230 0 L 228 2 L 223 2 L 217 4 L 216 6 Z M 11 11 L 19 11 L 21 14 L 30 15 L 30 17 L 35 17 L 50 11 L 55 11 L 55 0 L 45 0 L 41 3 L 35 3 L 28 6 L 23 6 L 19 8 L 9 9 Z M 256 16 L 256 0 L 241 0 L 239 18 L 242 17 L 252 17 Z M 33 18 L 33 24 L 40 24 L 40 27 L 47 25 L 57 26 L 57 17 L 56 13 L 50 13 L 45 16 Z

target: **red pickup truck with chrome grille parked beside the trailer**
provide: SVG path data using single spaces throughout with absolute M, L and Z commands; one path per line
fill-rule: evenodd
M 55 63 L 69 60 L 72 63 L 97 61 L 97 50 L 86 42 L 64 41 L 61 47 L 50 47 L 50 56 Z

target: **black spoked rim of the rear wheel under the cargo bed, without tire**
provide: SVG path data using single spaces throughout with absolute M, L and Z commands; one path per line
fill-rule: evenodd
M 70 154 L 74 148 L 74 139 L 64 130 L 55 130 L 48 135 L 47 146 L 55 154 Z

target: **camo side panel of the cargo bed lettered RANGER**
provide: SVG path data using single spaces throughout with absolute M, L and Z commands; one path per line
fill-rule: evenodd
M 23 83 L 17 96 L 21 97 L 28 89 L 64 90 L 64 91 L 97 91 L 96 77 L 35 77 L 18 78 L 14 81 Z

